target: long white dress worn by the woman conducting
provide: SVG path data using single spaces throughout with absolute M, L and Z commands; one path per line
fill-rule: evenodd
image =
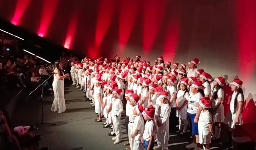
M 54 75 L 53 80 L 53 92 L 54 100 L 51 110 L 58 111 L 58 113 L 64 112 L 66 110 L 66 104 L 64 99 L 64 79 L 59 80 L 56 75 Z

